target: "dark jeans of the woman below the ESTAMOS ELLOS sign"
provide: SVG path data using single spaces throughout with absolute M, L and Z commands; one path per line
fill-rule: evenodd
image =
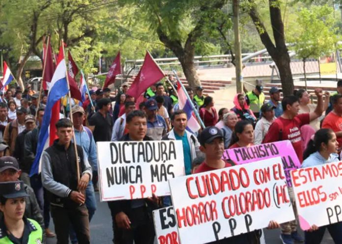
M 323 239 L 325 229 L 328 229 L 335 244 L 342 243 L 342 222 L 338 222 L 335 224 L 321 226 L 318 230 L 313 232 L 306 231 L 305 244 L 320 244 Z

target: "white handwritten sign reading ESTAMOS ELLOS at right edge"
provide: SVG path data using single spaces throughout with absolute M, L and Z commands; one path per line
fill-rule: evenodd
M 291 176 L 303 230 L 342 221 L 342 162 L 296 169 Z

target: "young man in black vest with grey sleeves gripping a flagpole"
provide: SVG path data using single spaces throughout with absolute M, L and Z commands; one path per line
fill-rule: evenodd
M 69 225 L 72 224 L 79 244 L 90 243 L 88 211 L 85 207 L 85 188 L 92 177 L 91 166 L 81 146 L 77 145 L 78 164 L 73 128 L 69 119 L 56 123 L 58 139 L 42 154 L 42 183 L 49 191 L 51 215 L 54 219 L 57 244 L 69 243 Z M 77 174 L 80 181 L 77 180 Z

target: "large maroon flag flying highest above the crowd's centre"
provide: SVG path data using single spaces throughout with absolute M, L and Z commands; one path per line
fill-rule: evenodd
M 148 52 L 143 60 L 142 68 L 127 91 L 136 100 L 151 85 L 165 77 L 164 72 L 159 68 L 153 57 Z

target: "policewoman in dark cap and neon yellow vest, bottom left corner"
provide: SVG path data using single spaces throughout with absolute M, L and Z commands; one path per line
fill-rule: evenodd
M 0 243 L 41 244 L 42 228 L 33 219 L 24 217 L 28 196 L 23 181 L 0 183 Z

